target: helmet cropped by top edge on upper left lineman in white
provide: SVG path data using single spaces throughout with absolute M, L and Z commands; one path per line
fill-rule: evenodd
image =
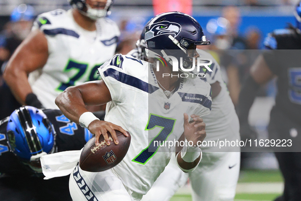
M 94 20 L 110 15 L 110 8 L 113 5 L 113 0 L 107 0 L 104 9 L 93 9 L 86 3 L 86 0 L 68 0 L 68 2 L 73 8 Z

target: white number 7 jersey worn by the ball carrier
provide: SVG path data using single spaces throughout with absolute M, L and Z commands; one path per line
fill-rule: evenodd
M 184 132 L 183 114 L 203 116 L 211 108 L 208 83 L 180 79 L 179 87 L 167 98 L 150 66 L 119 54 L 99 68 L 112 96 L 105 120 L 131 134 L 129 150 L 113 171 L 128 189 L 140 194 L 150 189 L 168 164 L 174 149 L 161 143 L 179 139 Z

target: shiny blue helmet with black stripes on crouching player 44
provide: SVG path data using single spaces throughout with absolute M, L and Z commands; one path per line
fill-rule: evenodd
M 23 106 L 9 117 L 7 139 L 23 163 L 40 172 L 40 157 L 54 153 L 56 134 L 47 116 L 35 107 Z

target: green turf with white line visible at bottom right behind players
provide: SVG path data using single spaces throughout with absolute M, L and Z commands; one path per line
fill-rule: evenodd
M 244 170 L 240 172 L 238 185 L 250 185 L 252 186 L 259 185 L 281 185 L 283 183 L 283 179 L 281 173 L 278 170 Z M 267 187 L 268 187 L 267 185 Z M 250 189 L 249 189 L 250 190 Z M 275 189 L 271 189 L 272 191 Z M 252 189 L 250 190 L 252 191 Z M 268 189 L 267 189 L 268 191 Z M 269 201 L 275 199 L 277 196 L 281 194 L 281 190 L 279 192 L 273 193 L 257 193 L 256 188 L 254 188 L 253 193 L 245 193 L 245 192 L 237 192 L 235 196 L 235 201 L 253 201 L 253 200 L 261 200 L 261 201 Z M 176 193 L 175 196 L 171 198 L 171 201 L 191 201 L 191 195 L 189 192 L 181 192 Z

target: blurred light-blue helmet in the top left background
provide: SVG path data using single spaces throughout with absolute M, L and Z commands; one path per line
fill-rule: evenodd
M 35 17 L 35 10 L 32 6 L 26 4 L 20 4 L 17 6 L 12 14 L 11 14 L 11 21 L 17 22 L 20 20 L 24 21 L 31 21 Z

